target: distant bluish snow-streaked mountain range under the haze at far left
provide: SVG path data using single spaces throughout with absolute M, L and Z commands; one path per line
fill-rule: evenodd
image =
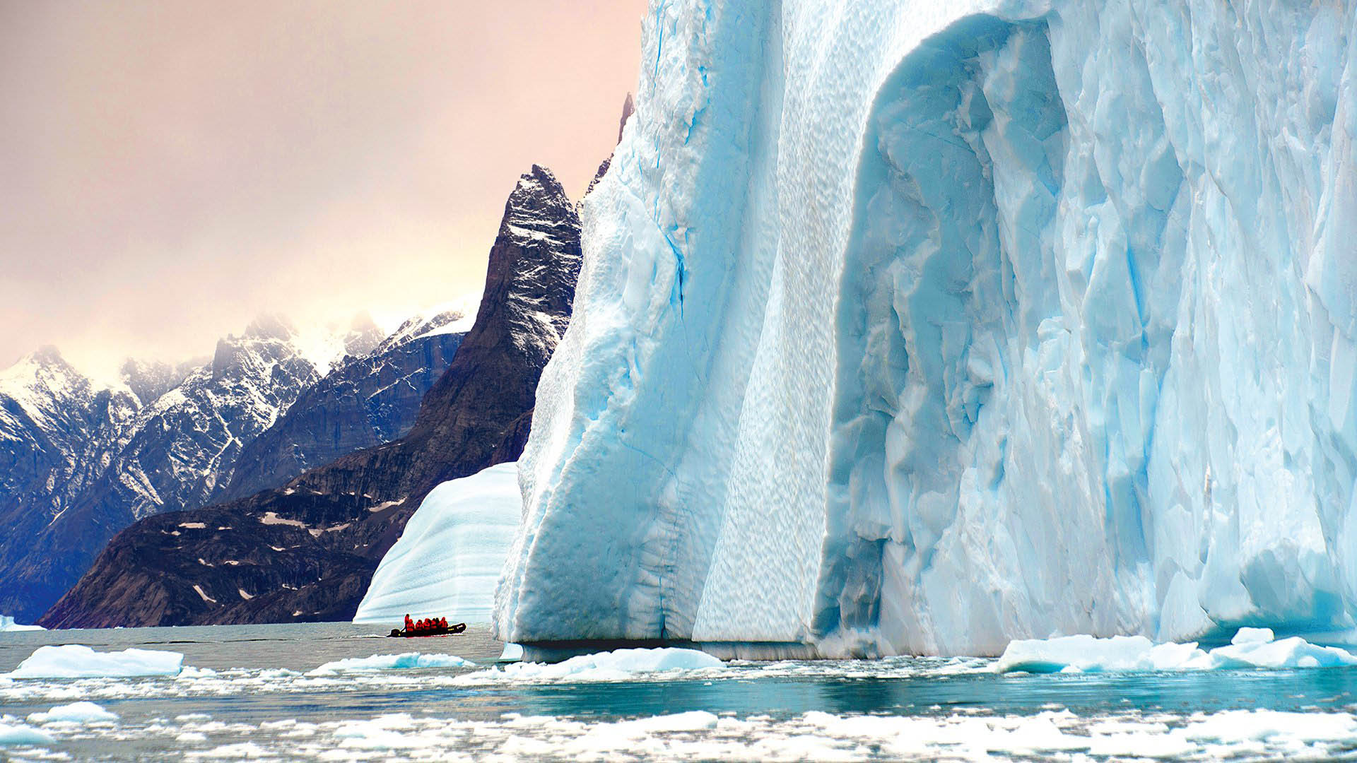
M 429 330 L 453 316 L 436 316 Z M 366 315 L 353 324 L 301 333 L 262 316 L 217 342 L 195 367 L 128 361 L 122 383 L 95 384 L 50 349 L 0 375 L 0 611 L 33 619 L 56 601 L 117 531 L 145 516 L 194 508 L 227 489 L 236 462 L 259 434 L 285 420 L 331 368 L 357 368 L 370 387 L 351 425 L 368 441 L 399 436 L 414 420 L 422 390 L 448 364 L 457 337 L 385 343 Z M 406 337 L 415 339 L 417 337 Z M 375 352 L 384 348 L 384 352 Z M 372 353 L 372 354 L 369 354 Z M 356 357 L 357 356 L 357 357 Z M 383 380 L 389 386 L 376 388 Z M 422 388 L 421 388 L 422 387 Z M 318 392 L 308 406 L 356 405 Z M 360 405 L 361 407 L 361 405 Z M 366 413 L 364 420 L 361 414 Z M 315 439 L 335 432 L 316 433 Z M 343 440 L 343 436 L 339 437 Z M 385 440 L 377 440 L 385 441 Z M 305 441 L 301 441 L 305 445 Z M 251 460 L 261 482 L 296 471 Z

